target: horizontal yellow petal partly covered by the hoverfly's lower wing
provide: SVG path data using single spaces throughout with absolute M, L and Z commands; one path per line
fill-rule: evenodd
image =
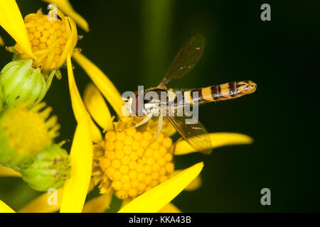
M 212 148 L 218 148 L 226 145 L 242 145 L 250 144 L 253 139 L 240 133 L 210 133 Z M 188 153 L 196 152 L 194 148 L 189 145 L 186 140 L 179 140 L 176 143 L 174 155 L 186 155 Z

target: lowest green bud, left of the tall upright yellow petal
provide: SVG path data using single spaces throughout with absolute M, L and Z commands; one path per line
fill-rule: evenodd
M 41 151 L 19 167 L 22 179 L 41 192 L 63 187 L 65 180 L 70 178 L 70 158 L 59 145 Z

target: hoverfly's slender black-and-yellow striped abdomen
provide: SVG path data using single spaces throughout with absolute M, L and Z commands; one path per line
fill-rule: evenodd
M 255 92 L 256 88 L 257 84 L 250 80 L 230 82 L 184 92 L 184 100 L 189 100 L 190 104 L 194 104 L 196 102 L 200 104 L 208 101 L 235 99 L 242 95 Z

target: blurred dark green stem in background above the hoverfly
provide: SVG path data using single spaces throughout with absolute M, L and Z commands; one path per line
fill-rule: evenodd
M 142 0 L 144 85 L 155 86 L 166 70 L 173 0 Z

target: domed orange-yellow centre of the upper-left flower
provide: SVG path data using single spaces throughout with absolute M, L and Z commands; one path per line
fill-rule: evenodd
M 33 66 L 41 67 L 44 71 L 55 70 L 63 65 L 68 52 L 72 55 L 78 40 L 76 27 L 72 26 L 74 22 L 60 11 L 58 15 L 61 19 L 49 21 L 48 15 L 39 10 L 24 18 L 31 50 L 38 57 Z M 21 59 L 30 58 L 18 44 L 14 47 Z

